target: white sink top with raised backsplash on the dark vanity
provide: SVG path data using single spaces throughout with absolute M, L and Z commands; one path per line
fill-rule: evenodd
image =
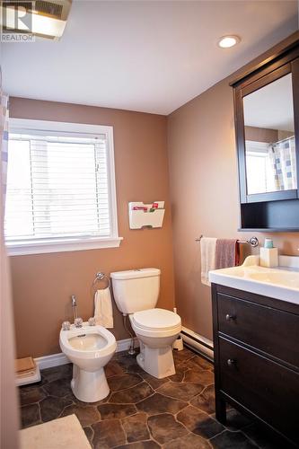
M 279 258 L 281 261 L 287 266 L 268 269 L 259 266 L 259 257 L 249 256 L 241 267 L 210 271 L 209 280 L 222 286 L 299 304 L 299 257 L 283 256 Z

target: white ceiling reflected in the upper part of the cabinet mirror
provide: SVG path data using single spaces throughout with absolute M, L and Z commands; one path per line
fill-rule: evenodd
M 243 104 L 245 126 L 294 132 L 291 74 L 250 93 Z

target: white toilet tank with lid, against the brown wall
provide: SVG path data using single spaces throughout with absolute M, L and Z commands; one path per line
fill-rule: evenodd
M 153 309 L 160 290 L 160 269 L 131 269 L 110 274 L 113 295 L 121 313 Z

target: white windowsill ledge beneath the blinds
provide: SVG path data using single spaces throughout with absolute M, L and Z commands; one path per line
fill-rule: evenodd
M 48 252 L 86 251 L 101 248 L 119 248 L 123 237 L 69 238 L 65 240 L 40 240 L 26 242 L 6 242 L 9 256 L 45 254 Z

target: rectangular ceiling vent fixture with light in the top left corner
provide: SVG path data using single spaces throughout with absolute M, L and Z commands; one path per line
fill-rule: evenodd
M 2 33 L 60 39 L 72 0 L 7 0 L 1 2 Z

